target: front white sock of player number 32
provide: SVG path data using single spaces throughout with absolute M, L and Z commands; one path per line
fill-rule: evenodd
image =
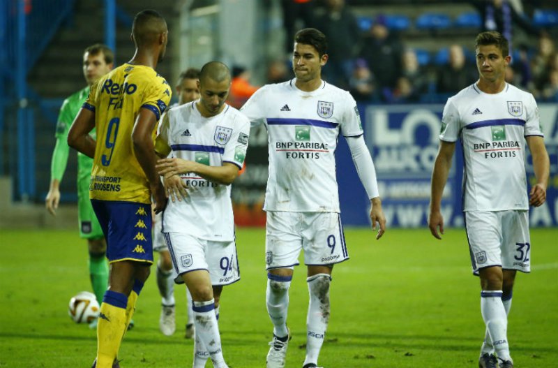
M 497 357 L 511 360 L 506 337 L 508 318 L 502 302 L 502 290 L 485 290 L 481 293 L 481 314 Z

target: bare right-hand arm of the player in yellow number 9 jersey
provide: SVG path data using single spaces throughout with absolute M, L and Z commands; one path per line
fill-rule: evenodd
M 157 124 L 157 117 L 153 111 L 148 108 L 141 108 L 140 113 L 135 119 L 134 128 L 132 131 L 132 142 L 134 147 L 134 154 L 137 162 L 140 163 L 145 172 L 147 181 L 151 188 L 151 195 L 155 200 L 155 213 L 165 209 L 167 205 L 167 198 L 163 183 L 161 183 L 155 165 L 157 163 L 157 155 L 153 147 L 153 138 L 151 133 Z

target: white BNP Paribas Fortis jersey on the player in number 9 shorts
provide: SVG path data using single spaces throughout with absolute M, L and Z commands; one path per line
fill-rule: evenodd
M 335 147 L 339 133 L 363 133 L 354 98 L 326 82 L 312 92 L 294 80 L 268 84 L 241 108 L 252 124 L 266 125 L 269 177 L 266 211 L 339 212 Z M 248 169 L 250 170 L 250 169 Z

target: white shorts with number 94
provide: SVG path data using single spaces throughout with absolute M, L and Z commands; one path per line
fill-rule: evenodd
M 183 284 L 186 272 L 207 270 L 213 286 L 229 285 L 240 279 L 236 244 L 213 242 L 184 233 L 163 233 L 172 260 L 174 282 Z

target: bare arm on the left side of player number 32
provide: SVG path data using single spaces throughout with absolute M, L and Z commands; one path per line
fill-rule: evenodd
M 432 170 L 428 227 L 430 228 L 430 233 L 437 239 L 442 239 L 440 234 L 444 234 L 444 218 L 442 217 L 441 211 L 442 194 L 444 193 L 444 186 L 446 186 L 448 180 L 454 151 L 455 142 L 444 142 L 441 140 L 438 154 L 434 162 L 434 170 Z

